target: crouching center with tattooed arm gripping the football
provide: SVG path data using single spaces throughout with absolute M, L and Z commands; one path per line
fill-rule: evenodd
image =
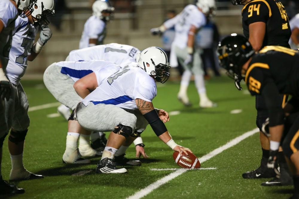
M 161 48 L 149 47 L 141 52 L 138 63 L 131 63 L 112 74 L 82 99 L 82 103 L 77 104 L 74 119 L 83 128 L 111 131 L 97 165 L 97 173 L 127 172 L 125 168 L 118 169 L 113 164 L 115 154 L 124 142 L 132 143 L 148 124 L 174 151 L 192 153 L 173 141 L 161 120 L 166 117 L 165 111 L 154 109 L 152 104 L 152 99 L 157 95 L 155 82 L 165 83 L 169 78 L 167 68 L 170 68 L 167 53 Z M 75 90 L 81 92 L 76 87 Z

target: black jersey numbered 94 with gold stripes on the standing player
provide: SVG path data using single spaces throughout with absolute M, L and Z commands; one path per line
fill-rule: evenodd
M 242 9 L 242 26 L 245 37 L 249 38 L 249 24 L 266 23 L 263 46 L 289 47 L 292 34 L 289 18 L 283 4 L 277 0 L 253 0 Z

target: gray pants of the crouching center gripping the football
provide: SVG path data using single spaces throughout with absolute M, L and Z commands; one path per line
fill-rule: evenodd
M 113 131 L 118 124 L 133 129 L 133 132 L 143 132 L 148 125 L 147 120 L 138 109 L 126 111 L 112 104 L 97 104 L 90 102 L 87 106 L 79 104 L 77 108 L 79 124 L 91 131 Z

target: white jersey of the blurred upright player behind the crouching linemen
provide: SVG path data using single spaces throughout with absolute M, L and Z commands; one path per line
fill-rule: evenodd
M 89 47 L 89 39 L 97 39 L 97 45 L 103 44 L 106 37 L 106 23 L 97 16 L 91 16 L 84 24 L 79 49 Z

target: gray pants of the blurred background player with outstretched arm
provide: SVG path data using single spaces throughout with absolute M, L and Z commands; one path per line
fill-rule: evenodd
M 202 59 L 200 57 L 200 49 L 194 48 L 193 53 L 193 62 L 190 64 L 184 64 L 184 61 L 187 58 L 187 47 L 181 49 L 179 47 L 175 47 L 176 56 L 179 60 L 179 63 L 184 67 L 185 70 L 190 70 L 194 75 L 203 75 L 204 72 L 202 70 Z

